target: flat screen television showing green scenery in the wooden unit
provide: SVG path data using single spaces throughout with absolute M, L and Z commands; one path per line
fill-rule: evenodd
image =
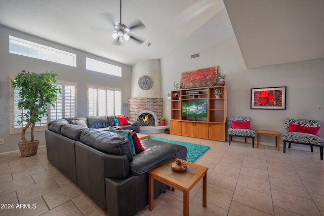
M 207 117 L 207 101 L 182 102 L 183 117 Z

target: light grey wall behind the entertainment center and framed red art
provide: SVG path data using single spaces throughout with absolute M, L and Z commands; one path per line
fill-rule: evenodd
M 195 53 L 200 57 L 190 59 Z M 210 66 L 218 66 L 220 73 L 227 74 L 228 116 L 250 116 L 253 130 L 277 130 L 281 134 L 285 133 L 285 118 L 317 119 L 322 124 L 319 136 L 324 138 L 324 111 L 316 111 L 316 105 L 324 108 L 324 59 L 247 69 L 225 9 L 161 59 L 168 121 L 171 101 L 167 93 L 173 90 L 173 81 L 180 82 L 183 71 Z M 286 110 L 250 109 L 251 88 L 277 86 L 287 86 Z M 261 136 L 260 141 L 274 145 L 274 137 Z

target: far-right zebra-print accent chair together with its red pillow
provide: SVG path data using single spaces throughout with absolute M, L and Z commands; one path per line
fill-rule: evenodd
M 319 132 L 320 121 L 308 119 L 285 119 L 285 129 L 287 133 L 282 134 L 284 141 L 284 153 L 286 153 L 286 142 L 297 143 L 310 146 L 310 151 L 313 152 L 313 146 L 319 147 L 320 160 L 323 160 L 324 139 L 320 138 Z

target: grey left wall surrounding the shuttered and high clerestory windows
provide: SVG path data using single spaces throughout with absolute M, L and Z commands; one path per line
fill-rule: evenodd
M 75 53 L 76 67 L 11 54 L 9 53 L 9 35 Z M 86 57 L 120 66 L 122 70 L 122 77 L 120 78 L 86 70 Z M 44 73 L 47 70 L 53 70 L 59 75 L 57 78 L 58 80 L 76 82 L 77 116 L 87 115 L 87 84 L 121 88 L 123 103 L 128 103 L 128 98 L 130 97 L 131 93 L 132 68 L 130 66 L 103 59 L 79 50 L 71 49 L 69 47 L 58 45 L 0 26 L 0 138 L 5 139 L 5 144 L 0 145 L 0 153 L 18 150 L 17 143 L 21 141 L 20 134 L 9 134 L 9 74 L 18 74 L 23 69 L 33 71 L 35 73 Z M 45 145 L 44 134 L 44 132 L 35 133 L 35 138 L 40 140 L 40 146 Z

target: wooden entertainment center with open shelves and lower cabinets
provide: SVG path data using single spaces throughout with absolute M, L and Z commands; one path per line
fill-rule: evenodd
M 214 95 L 218 88 L 220 98 Z M 177 97 L 173 97 L 178 93 Z M 207 117 L 191 117 L 183 115 L 184 102 L 207 102 Z M 191 89 L 179 89 L 171 92 L 170 133 L 197 138 L 227 140 L 227 88 L 212 86 Z

